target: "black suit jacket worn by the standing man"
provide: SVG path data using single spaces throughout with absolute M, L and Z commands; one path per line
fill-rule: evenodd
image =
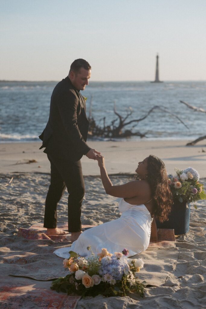
M 53 90 L 48 123 L 39 136 L 40 149 L 46 147 L 46 154 L 78 161 L 90 150 L 88 128 L 85 100 L 67 76 Z

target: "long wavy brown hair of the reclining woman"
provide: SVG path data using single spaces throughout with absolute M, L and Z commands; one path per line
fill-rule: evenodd
M 165 164 L 154 155 L 149 155 L 147 160 L 147 181 L 152 190 L 154 201 L 152 214 L 159 222 L 164 222 L 168 220 L 173 199 L 167 182 Z

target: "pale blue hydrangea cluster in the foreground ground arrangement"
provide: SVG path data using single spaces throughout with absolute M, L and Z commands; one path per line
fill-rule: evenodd
M 121 280 L 124 273 L 129 272 L 129 265 L 125 256 L 117 259 L 116 256 L 103 257 L 99 269 L 100 276 L 109 273 L 115 280 Z

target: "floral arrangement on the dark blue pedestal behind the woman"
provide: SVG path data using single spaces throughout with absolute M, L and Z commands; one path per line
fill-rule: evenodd
M 192 167 L 188 167 L 185 170 L 178 168 L 174 170 L 176 175 L 168 175 L 168 184 L 170 185 L 174 201 L 179 200 L 181 203 L 183 201 L 191 203 L 206 199 L 203 184 L 199 183 L 200 175 L 198 171 Z M 194 207 L 197 209 L 196 205 Z

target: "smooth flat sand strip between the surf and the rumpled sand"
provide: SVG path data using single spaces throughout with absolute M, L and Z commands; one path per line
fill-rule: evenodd
M 88 141 L 91 148 L 105 157 L 108 174 L 135 174 L 138 162 L 151 154 L 163 160 L 168 173 L 173 174 L 175 167 L 191 166 L 200 173 L 200 178 L 206 177 L 206 142 L 203 140 L 194 146 L 185 146 L 186 143 L 187 140 Z M 0 143 L 0 172 L 50 173 L 47 155 L 39 150 L 40 146 L 41 142 Z M 29 160 L 36 162 L 28 164 Z M 84 176 L 100 175 L 97 162 L 86 156 L 81 162 Z

